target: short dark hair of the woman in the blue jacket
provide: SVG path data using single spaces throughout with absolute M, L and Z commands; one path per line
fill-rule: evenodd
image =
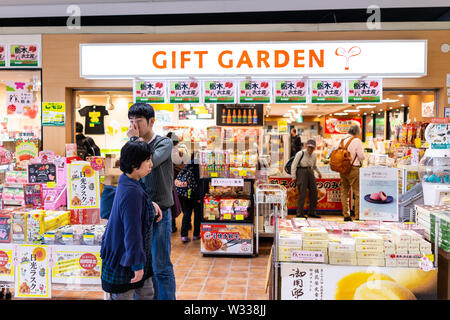
M 123 173 L 132 173 L 139 169 L 142 162 L 150 159 L 153 148 L 144 141 L 128 141 L 120 150 L 120 170 Z

